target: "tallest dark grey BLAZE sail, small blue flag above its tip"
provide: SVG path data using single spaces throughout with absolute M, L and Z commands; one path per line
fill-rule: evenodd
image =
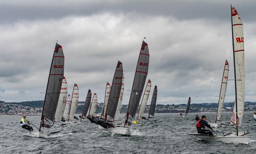
M 132 125 L 133 118 L 138 109 L 140 98 L 148 75 L 149 52 L 148 44 L 142 41 L 140 48 L 140 55 L 136 66 L 136 71 L 132 84 L 132 91 L 130 95 L 129 105 L 126 113 L 125 125 Z

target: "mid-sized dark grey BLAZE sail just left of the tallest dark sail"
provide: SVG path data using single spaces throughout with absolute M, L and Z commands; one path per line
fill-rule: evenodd
M 115 75 L 113 77 L 113 82 L 108 98 L 108 106 L 106 109 L 105 119 L 108 121 L 114 121 L 116 115 L 116 108 L 118 105 L 120 92 L 122 88 L 122 81 L 123 81 L 123 64 L 122 62 L 118 61 L 116 65 Z

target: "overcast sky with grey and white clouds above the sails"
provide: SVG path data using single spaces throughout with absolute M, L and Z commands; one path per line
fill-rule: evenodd
M 144 37 L 157 104 L 218 102 L 225 60 L 234 79 L 230 4 L 244 26 L 245 101 L 256 101 L 256 1 L 0 1 L 0 100 L 43 100 L 56 40 L 68 93 L 103 102 L 118 60 L 128 104 Z M 147 79 L 148 80 L 148 79 Z M 148 100 L 150 104 L 152 91 Z M 228 81 L 225 102 L 235 100 Z

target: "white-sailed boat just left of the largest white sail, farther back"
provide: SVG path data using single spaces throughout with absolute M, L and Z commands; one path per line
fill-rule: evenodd
M 224 66 L 224 71 L 223 71 L 223 76 L 222 76 L 222 82 L 220 86 L 220 96 L 219 96 L 219 103 L 218 103 L 218 109 L 217 109 L 217 115 L 216 115 L 216 120 L 215 123 L 208 123 L 211 125 L 211 127 L 224 127 L 224 125 L 217 123 L 217 121 L 220 120 L 220 115 L 222 112 L 222 107 L 224 104 L 224 99 L 225 99 L 225 94 L 226 94 L 226 89 L 227 89 L 227 84 L 228 84 L 228 61 L 226 60 L 225 66 Z

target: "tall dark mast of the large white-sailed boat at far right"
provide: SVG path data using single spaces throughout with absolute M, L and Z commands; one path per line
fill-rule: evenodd
M 236 62 L 235 62 L 235 47 L 234 47 L 234 34 L 233 34 L 232 5 L 230 5 L 230 10 L 231 10 L 232 46 L 233 46 L 234 73 L 235 73 L 235 95 L 236 95 Z M 236 105 L 236 136 L 238 136 L 237 96 L 236 96 L 236 100 L 235 100 L 235 105 Z

